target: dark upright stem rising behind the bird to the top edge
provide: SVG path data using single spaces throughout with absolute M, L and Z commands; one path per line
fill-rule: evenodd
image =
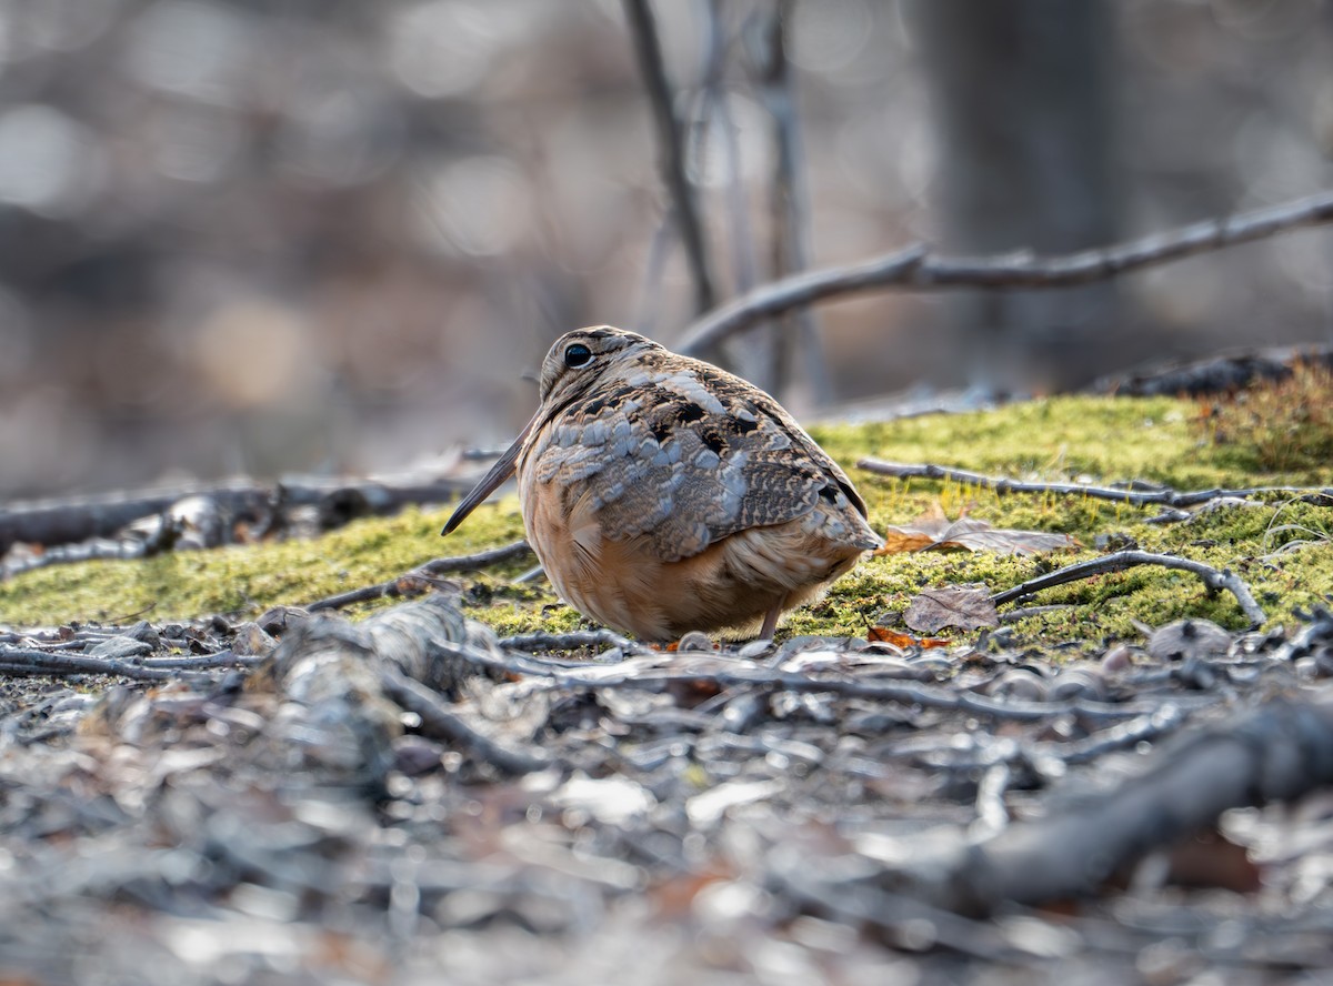
M 670 193 L 672 208 L 680 228 L 680 239 L 685 246 L 690 277 L 694 281 L 694 309 L 706 312 L 713 306 L 713 281 L 708 265 L 708 249 L 704 229 L 694 209 L 693 188 L 685 173 L 685 141 L 681 137 L 680 123 L 672 105 L 670 84 L 666 81 L 666 68 L 663 64 L 661 44 L 657 40 L 657 24 L 653 20 L 648 0 L 624 0 L 625 20 L 635 41 L 635 55 L 644 76 L 644 88 L 653 111 L 657 127 L 657 167 L 663 183 Z

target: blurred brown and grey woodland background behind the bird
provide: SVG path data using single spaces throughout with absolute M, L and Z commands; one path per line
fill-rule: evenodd
M 653 11 L 716 304 L 918 240 L 1064 252 L 1333 187 L 1324 0 Z M 0 0 L 0 496 L 508 442 L 559 333 L 670 345 L 698 314 L 657 161 L 617 0 Z M 782 358 L 717 356 L 818 417 L 1328 341 L 1329 236 L 864 294 Z

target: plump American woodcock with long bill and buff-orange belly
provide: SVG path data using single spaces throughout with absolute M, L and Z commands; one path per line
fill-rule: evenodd
M 556 592 L 643 640 L 753 629 L 882 544 L 846 473 L 757 386 L 611 326 L 556 340 L 541 406 L 448 534 L 519 473 Z

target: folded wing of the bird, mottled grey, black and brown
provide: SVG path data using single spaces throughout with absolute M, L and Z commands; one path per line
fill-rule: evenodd
M 874 546 L 846 474 L 768 394 L 712 366 L 649 374 L 553 422 L 536 480 L 595 510 L 604 537 L 647 537 L 663 561 L 824 505 Z M 589 496 L 591 500 L 583 500 Z

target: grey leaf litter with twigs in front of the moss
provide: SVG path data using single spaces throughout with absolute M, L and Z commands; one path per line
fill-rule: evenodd
M 0 959 L 37 982 L 1054 983 L 1173 949 L 1320 975 L 1333 841 L 1285 806 L 1333 783 L 1333 613 L 1225 649 L 1170 633 L 1209 646 L 672 653 L 503 641 L 451 593 L 361 624 L 7 634 L 0 661 L 107 674 L 32 665 L 0 696 Z

